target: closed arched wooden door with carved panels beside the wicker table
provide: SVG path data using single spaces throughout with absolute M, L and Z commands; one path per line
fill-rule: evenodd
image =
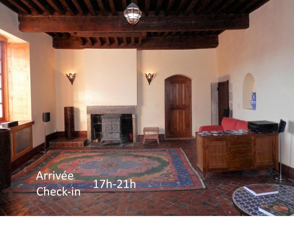
M 174 75 L 165 79 L 165 137 L 192 136 L 192 81 Z

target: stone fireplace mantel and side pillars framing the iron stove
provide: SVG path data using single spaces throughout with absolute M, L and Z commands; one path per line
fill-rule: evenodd
M 93 114 L 132 114 L 133 142 L 137 142 L 137 105 L 124 106 L 87 106 L 87 138 L 91 142 L 93 132 Z

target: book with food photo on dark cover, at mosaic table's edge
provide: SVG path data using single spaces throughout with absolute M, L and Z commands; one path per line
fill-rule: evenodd
M 258 210 L 269 216 L 294 216 L 294 205 L 280 199 L 263 205 Z

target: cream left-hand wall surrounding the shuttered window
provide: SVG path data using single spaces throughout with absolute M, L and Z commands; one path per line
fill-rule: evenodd
M 17 14 L 0 3 L 0 29 L 23 39 L 30 44 L 31 112 L 33 146 L 44 142 L 42 113 L 50 112 L 51 121 L 46 123 L 46 134 L 54 132 L 56 126 L 54 49 L 52 38 L 44 33 L 22 33 L 18 30 Z

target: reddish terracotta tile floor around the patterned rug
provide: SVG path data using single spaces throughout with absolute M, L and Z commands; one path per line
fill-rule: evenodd
M 182 148 L 196 169 L 194 139 L 169 140 L 160 142 L 159 146 L 156 141 L 148 141 L 144 146 L 136 143 L 134 147 L 124 149 L 173 147 Z M 35 156 L 26 165 L 39 157 L 40 155 Z M 240 215 L 232 205 L 234 190 L 246 184 L 276 183 L 271 174 L 273 172 L 270 170 L 207 174 L 204 180 L 205 190 L 82 192 L 79 197 L 39 197 L 36 193 L 7 193 L 4 190 L 0 200 L 0 215 Z M 294 186 L 293 181 L 286 181 L 284 184 Z

